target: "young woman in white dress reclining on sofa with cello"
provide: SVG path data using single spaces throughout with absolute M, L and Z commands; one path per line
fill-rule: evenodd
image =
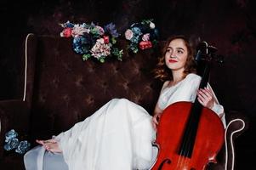
M 213 110 L 225 125 L 224 109 L 212 88 L 198 89 L 193 51 L 183 36 L 171 37 L 163 49 L 156 77 L 164 80 L 152 117 L 128 99 L 112 99 L 94 115 L 54 139 L 37 140 L 41 146 L 24 156 L 26 170 L 132 170 L 149 169 L 156 160 L 152 146 L 158 117 L 178 101 L 199 102 Z

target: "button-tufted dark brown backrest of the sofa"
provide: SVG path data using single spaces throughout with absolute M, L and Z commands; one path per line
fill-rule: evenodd
M 110 58 L 100 63 L 82 61 L 71 48 L 71 38 L 37 36 L 35 42 L 35 35 L 31 36 L 27 44 L 29 39 L 37 42 L 35 55 L 27 56 L 32 62 L 28 70 L 34 70 L 27 80 L 33 84 L 26 87 L 32 89 L 26 92 L 27 100 L 31 99 L 32 137 L 49 138 L 65 131 L 113 98 L 130 99 L 150 114 L 154 110 L 162 87 L 152 73 L 160 46 L 131 54 L 128 42 L 120 39 L 122 61 Z

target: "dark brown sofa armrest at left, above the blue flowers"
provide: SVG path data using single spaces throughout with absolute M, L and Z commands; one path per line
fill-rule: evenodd
M 22 100 L 0 101 L 0 158 L 3 157 L 5 133 L 10 129 L 24 134 L 29 129 L 29 109 Z

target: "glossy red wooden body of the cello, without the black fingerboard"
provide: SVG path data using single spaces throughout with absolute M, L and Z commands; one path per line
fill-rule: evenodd
M 199 118 L 191 156 L 180 154 L 192 105 L 191 102 L 177 102 L 163 111 L 156 136 L 159 153 L 152 170 L 203 170 L 208 162 L 215 162 L 224 142 L 224 126 L 219 116 L 205 107 Z

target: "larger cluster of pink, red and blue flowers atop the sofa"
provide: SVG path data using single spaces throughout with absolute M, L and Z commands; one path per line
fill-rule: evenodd
M 60 24 L 63 31 L 60 37 L 73 37 L 72 48 L 77 54 L 82 54 L 82 60 L 87 60 L 94 56 L 105 62 L 105 57 L 116 56 L 118 60 L 122 60 L 122 50 L 115 47 L 117 43 L 116 26 L 112 23 L 101 27 L 91 24 L 72 24 L 70 21 Z

